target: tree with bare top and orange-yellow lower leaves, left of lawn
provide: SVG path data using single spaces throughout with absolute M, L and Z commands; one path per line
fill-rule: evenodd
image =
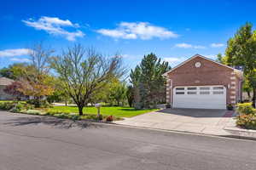
M 32 64 L 29 65 L 30 70 L 24 71 L 20 76 L 22 82 L 20 92 L 32 96 L 36 106 L 40 106 L 42 97 L 54 92 L 53 77 L 49 75 L 49 59 L 53 53 L 54 50 L 45 48 L 42 42 L 36 43 L 30 53 L 32 60 Z

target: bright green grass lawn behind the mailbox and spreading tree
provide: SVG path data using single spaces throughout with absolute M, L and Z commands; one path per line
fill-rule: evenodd
M 65 111 L 71 113 L 78 113 L 78 107 L 76 106 L 54 106 L 50 108 L 49 111 Z M 84 114 L 97 114 L 95 107 L 86 107 L 84 108 Z M 150 111 L 157 111 L 156 109 L 147 109 L 147 110 L 135 110 L 131 107 L 118 107 L 118 106 L 103 106 L 101 107 L 101 114 L 106 116 L 117 116 L 117 117 L 131 117 L 141 115 Z

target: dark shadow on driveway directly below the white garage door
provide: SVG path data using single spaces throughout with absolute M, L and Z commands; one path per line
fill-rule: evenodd
M 225 110 L 211 110 L 211 109 L 164 109 L 155 111 L 160 113 L 172 114 L 177 116 L 190 116 L 190 117 L 223 117 L 226 113 Z

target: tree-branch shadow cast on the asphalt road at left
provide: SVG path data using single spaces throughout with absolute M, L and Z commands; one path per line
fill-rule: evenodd
M 38 125 L 38 124 L 45 124 L 52 127 L 59 127 L 59 128 L 71 128 L 71 127 L 79 127 L 79 128 L 90 128 L 90 127 L 102 127 L 94 122 L 88 121 L 73 121 L 68 119 L 59 119 L 55 117 L 49 116 L 22 116 L 13 119 L 9 119 L 4 122 L 4 125 L 11 125 L 11 126 L 24 126 L 24 125 Z

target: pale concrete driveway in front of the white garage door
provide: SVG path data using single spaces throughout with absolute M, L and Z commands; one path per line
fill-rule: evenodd
M 124 121 L 116 123 L 189 133 L 228 135 L 224 127 L 234 122 L 234 115 L 234 111 L 224 110 L 165 109 L 125 118 Z

